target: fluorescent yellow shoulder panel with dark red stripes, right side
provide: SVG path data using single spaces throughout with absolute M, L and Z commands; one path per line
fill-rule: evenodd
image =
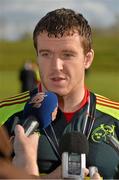
M 113 101 L 105 96 L 95 94 L 96 109 L 119 120 L 119 102 Z

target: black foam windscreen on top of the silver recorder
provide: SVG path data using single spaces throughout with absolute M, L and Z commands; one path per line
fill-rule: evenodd
M 59 151 L 60 154 L 68 152 L 87 155 L 89 152 L 89 143 L 86 136 L 81 132 L 68 132 L 61 137 Z

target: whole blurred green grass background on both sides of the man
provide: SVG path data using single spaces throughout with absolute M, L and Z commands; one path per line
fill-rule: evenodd
M 118 33 L 94 33 L 94 63 L 86 84 L 94 92 L 119 101 Z M 0 98 L 20 92 L 19 70 L 27 59 L 35 60 L 31 38 L 0 42 Z

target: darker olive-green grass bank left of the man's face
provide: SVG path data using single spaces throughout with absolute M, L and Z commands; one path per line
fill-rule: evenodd
M 31 38 L 19 41 L 0 41 L 0 71 L 19 70 L 23 63 L 35 60 Z

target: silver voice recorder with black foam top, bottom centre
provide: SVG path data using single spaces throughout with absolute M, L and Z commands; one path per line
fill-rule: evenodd
M 83 179 L 86 155 L 89 152 L 86 136 L 76 131 L 64 134 L 60 140 L 59 151 L 62 154 L 62 177 Z

